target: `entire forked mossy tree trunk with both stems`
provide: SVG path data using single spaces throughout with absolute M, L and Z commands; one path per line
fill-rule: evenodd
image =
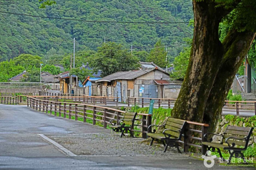
M 221 43 L 219 23 L 232 9 L 216 5 L 213 1 L 193 1 L 194 37 L 190 62 L 172 110 L 175 118 L 209 123 L 211 127 L 218 120 L 234 75 L 255 37 L 250 31 L 230 30 Z

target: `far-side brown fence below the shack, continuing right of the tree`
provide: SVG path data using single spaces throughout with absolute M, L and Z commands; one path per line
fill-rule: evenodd
M 154 107 L 156 108 L 173 108 L 177 99 L 128 97 L 128 107 L 132 105 L 148 107 L 151 100 L 154 100 Z M 255 116 L 256 101 L 225 101 L 225 103 L 223 104 L 222 114 L 233 114 L 237 116 Z

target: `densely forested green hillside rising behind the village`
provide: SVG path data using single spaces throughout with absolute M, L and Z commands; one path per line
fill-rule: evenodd
M 38 0 L 2 0 L 0 11 L 98 21 L 188 22 L 193 18 L 191 0 L 56 0 L 45 9 L 39 6 Z M 133 45 L 134 51 L 147 52 L 161 38 L 173 58 L 186 45 L 183 39 L 192 37 L 193 28 L 187 25 L 91 23 L 0 13 L 0 56 L 1 61 L 22 53 L 47 59 L 51 53 L 72 52 L 73 37 L 76 51 L 96 50 L 106 37 L 124 48 Z

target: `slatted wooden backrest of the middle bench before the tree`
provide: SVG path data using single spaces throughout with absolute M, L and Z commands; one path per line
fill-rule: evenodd
M 164 133 L 170 134 L 171 136 L 174 136 L 177 139 L 181 139 L 181 136 L 184 133 L 186 125 L 187 125 L 186 121 L 168 117 L 164 125 L 164 129 L 171 129 L 171 130 L 167 130 Z M 176 131 L 176 130 L 180 130 L 180 131 Z

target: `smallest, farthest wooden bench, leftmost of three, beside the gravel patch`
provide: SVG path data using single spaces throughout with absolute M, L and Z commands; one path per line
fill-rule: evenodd
M 109 127 L 112 128 L 112 133 L 113 131 L 116 131 L 116 132 L 120 131 L 122 132 L 120 137 L 122 137 L 124 133 L 128 133 L 129 131 L 130 135 L 134 137 L 132 130 L 133 130 L 133 125 L 134 125 L 136 115 L 137 115 L 136 112 L 126 112 L 124 113 L 123 119 L 111 119 L 109 121 L 109 123 L 111 123 Z M 114 120 L 116 120 L 116 123 L 112 123 Z

